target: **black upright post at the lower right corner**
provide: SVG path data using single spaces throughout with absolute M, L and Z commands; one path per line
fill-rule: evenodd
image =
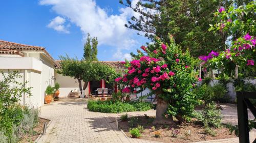
M 239 129 L 239 142 L 247 143 L 249 141 L 249 126 L 248 126 L 248 111 L 244 102 L 243 92 L 237 92 L 238 102 L 238 129 Z

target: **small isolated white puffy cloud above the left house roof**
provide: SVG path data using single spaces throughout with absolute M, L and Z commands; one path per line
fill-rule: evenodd
M 69 31 L 67 30 L 67 27 L 69 27 L 69 25 L 63 25 L 65 21 L 66 20 L 64 18 L 57 16 L 51 20 L 47 27 L 53 28 L 57 32 L 69 33 Z

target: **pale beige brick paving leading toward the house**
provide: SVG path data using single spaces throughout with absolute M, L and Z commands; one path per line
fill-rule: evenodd
M 41 107 L 40 117 L 50 119 L 47 134 L 39 138 L 38 143 L 55 142 L 154 142 L 126 137 L 116 129 L 115 118 L 121 114 L 90 112 L 86 99 L 60 99 Z M 235 111 L 234 111 L 235 110 Z M 155 110 L 129 112 L 129 116 L 146 113 L 155 116 Z M 236 108 L 224 107 L 224 122 L 237 123 Z M 250 136 L 256 136 L 253 132 Z M 205 142 L 238 142 L 238 138 L 221 139 Z

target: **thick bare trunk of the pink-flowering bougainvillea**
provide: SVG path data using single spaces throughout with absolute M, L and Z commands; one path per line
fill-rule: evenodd
M 156 124 L 174 125 L 175 124 L 173 117 L 170 117 L 170 118 L 164 117 L 164 114 L 166 113 L 167 108 L 168 108 L 168 103 L 160 98 L 157 98 L 156 118 L 152 123 L 153 125 L 156 125 Z

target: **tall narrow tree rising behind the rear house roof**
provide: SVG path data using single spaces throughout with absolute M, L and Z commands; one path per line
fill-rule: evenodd
M 84 44 L 83 48 L 83 58 L 84 60 L 92 60 L 98 61 L 97 54 L 98 54 L 98 40 L 96 37 L 91 39 L 90 34 L 88 33 L 87 42 Z

